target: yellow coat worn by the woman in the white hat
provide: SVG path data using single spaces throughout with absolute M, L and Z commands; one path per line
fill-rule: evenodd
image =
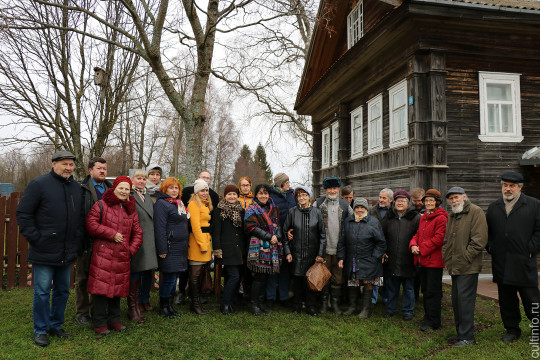
M 208 208 L 207 200 L 201 199 L 201 202 L 203 204 L 202 207 L 196 201 L 190 201 L 188 205 L 191 216 L 189 219 L 191 222 L 191 233 L 189 234 L 188 259 L 206 262 L 212 260 L 210 209 Z

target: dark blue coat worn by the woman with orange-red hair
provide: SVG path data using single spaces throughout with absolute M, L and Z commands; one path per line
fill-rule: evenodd
M 178 214 L 178 206 L 166 199 L 171 198 L 162 192 L 157 193 L 154 204 L 154 237 L 158 267 L 163 272 L 186 271 L 188 252 L 187 214 Z M 163 259 L 161 254 L 167 254 Z

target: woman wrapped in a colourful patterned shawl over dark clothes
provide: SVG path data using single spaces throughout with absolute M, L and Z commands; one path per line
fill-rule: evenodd
M 244 216 L 246 234 L 250 236 L 247 267 L 252 272 L 250 310 L 265 315 L 271 310 L 264 304 L 268 276 L 278 274 L 283 260 L 279 209 L 269 195 L 269 187 L 255 187 L 255 198 Z

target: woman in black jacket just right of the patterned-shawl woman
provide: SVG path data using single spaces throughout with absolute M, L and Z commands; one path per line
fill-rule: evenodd
M 283 233 L 292 230 L 292 239 L 286 239 L 283 248 L 286 259 L 292 263 L 293 312 L 300 314 L 305 297 L 306 312 L 317 316 L 317 296 L 309 289 L 306 272 L 315 262 L 324 262 L 326 232 L 321 210 L 311 206 L 311 189 L 298 186 L 294 191 L 298 206 L 291 208 L 283 225 Z

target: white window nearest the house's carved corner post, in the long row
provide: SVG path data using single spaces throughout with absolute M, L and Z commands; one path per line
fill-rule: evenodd
M 390 147 L 397 147 L 409 141 L 407 128 L 407 80 L 388 89 L 390 113 Z

